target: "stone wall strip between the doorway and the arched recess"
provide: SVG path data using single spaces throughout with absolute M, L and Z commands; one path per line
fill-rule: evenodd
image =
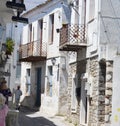
M 89 76 L 91 76 L 91 92 L 90 92 L 90 106 L 89 106 L 89 126 L 96 126 L 97 124 L 97 109 L 98 109 L 98 61 L 94 57 L 88 61 Z M 89 79 L 89 78 L 88 78 Z

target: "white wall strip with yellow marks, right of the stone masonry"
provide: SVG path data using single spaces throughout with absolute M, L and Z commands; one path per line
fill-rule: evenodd
M 120 125 L 120 55 L 116 56 L 113 63 L 113 95 L 112 95 L 112 126 Z

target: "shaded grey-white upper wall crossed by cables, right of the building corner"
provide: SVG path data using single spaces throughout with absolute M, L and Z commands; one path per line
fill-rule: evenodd
M 106 50 L 106 59 L 113 60 L 119 50 L 119 22 L 120 22 L 120 2 L 116 1 L 101 1 L 101 18 L 100 18 L 100 44 Z M 103 37 L 104 36 L 104 37 Z M 101 48 L 102 50 L 102 48 Z

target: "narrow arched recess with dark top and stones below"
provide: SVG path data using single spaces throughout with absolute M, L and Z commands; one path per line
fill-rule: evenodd
M 105 83 L 106 83 L 106 61 L 99 62 L 99 81 L 98 81 L 98 125 L 105 124 Z

